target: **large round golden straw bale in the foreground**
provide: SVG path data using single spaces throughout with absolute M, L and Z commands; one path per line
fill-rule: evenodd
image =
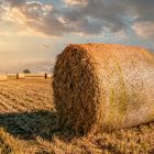
M 154 121 L 154 57 L 144 48 L 69 45 L 53 79 L 63 129 L 88 133 Z

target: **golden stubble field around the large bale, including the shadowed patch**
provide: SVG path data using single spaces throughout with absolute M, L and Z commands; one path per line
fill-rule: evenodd
M 48 79 L 0 81 L 1 154 L 154 153 L 154 123 L 76 136 L 57 125 Z

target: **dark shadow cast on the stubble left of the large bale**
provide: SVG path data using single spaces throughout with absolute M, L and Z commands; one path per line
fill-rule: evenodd
M 0 114 L 0 127 L 24 140 L 34 140 L 36 136 L 52 140 L 55 133 L 61 133 L 54 111 Z

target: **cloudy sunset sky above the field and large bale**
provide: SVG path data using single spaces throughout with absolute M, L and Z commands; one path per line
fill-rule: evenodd
M 154 51 L 154 0 L 0 0 L 0 72 L 48 62 L 74 43 Z

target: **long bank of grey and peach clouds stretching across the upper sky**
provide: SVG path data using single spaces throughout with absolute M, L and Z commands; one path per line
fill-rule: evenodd
M 45 35 L 100 35 L 107 29 L 119 33 L 128 29 L 131 20 L 136 34 L 153 33 L 152 26 L 146 29 L 154 22 L 154 0 L 64 0 L 58 9 L 41 1 L 6 1 L 10 3 L 15 21 L 18 18 L 26 28 Z

